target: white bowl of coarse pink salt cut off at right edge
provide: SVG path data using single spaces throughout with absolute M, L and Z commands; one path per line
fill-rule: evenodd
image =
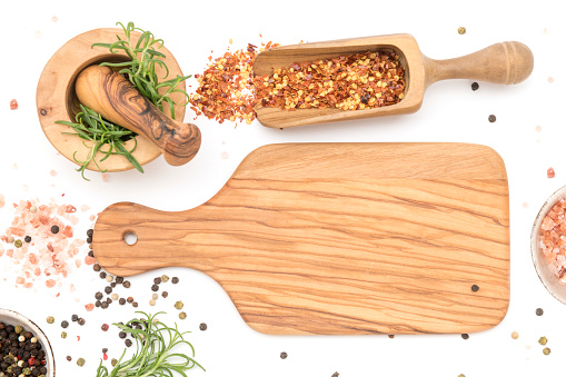
M 530 234 L 530 254 L 543 285 L 566 304 L 566 186 L 540 208 Z

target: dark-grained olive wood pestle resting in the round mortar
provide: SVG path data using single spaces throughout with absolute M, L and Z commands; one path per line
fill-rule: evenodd
M 190 161 L 200 148 L 200 130 L 162 113 L 120 73 L 109 67 L 91 66 L 77 78 L 77 98 L 103 118 L 150 139 L 167 163 Z

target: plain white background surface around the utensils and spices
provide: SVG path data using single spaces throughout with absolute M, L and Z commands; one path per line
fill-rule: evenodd
M 182 330 L 193 331 L 189 340 L 208 376 L 435 376 L 467 377 L 559 375 L 566 355 L 566 308 L 547 294 L 534 270 L 529 234 L 545 199 L 566 182 L 564 158 L 564 91 L 566 28 L 558 1 L 11 1 L 2 3 L 0 36 L 0 194 L 7 206 L 0 209 L 0 234 L 13 217 L 11 202 L 54 198 L 79 208 L 77 235 L 91 226 L 88 216 L 116 201 L 129 200 L 165 210 L 196 207 L 214 196 L 239 162 L 252 149 L 289 141 L 458 141 L 487 145 L 505 160 L 510 190 L 512 300 L 507 317 L 496 328 L 471 334 L 443 336 L 266 336 L 248 328 L 222 289 L 205 275 L 171 268 L 131 279 L 129 295 L 143 310 L 167 310 L 175 320 L 176 300 L 182 299 L 188 318 Z M 54 18 L 57 21 L 54 21 Z M 88 172 L 82 180 L 75 166 L 49 143 L 36 112 L 36 87 L 43 66 L 64 42 L 85 31 L 135 21 L 151 30 L 175 53 L 183 72 L 202 72 L 207 57 L 248 42 L 272 40 L 281 44 L 351 37 L 408 32 L 421 51 L 435 59 L 474 52 L 499 41 L 526 43 L 535 56 L 535 70 L 524 83 L 512 87 L 480 83 L 471 91 L 468 80 L 445 81 L 428 89 L 423 108 L 415 115 L 329 123 L 295 129 L 268 129 L 198 119 L 202 147 L 185 167 L 172 168 L 162 158 L 147 165 L 146 173 L 132 170 L 111 173 L 102 181 Z M 467 29 L 458 34 L 458 27 Z M 264 36 L 261 39 L 259 33 Z M 549 80 L 552 78 L 552 80 Z M 550 82 L 553 81 L 553 82 Z M 193 86 L 195 88 L 195 86 Z M 18 110 L 10 110 L 16 98 Z M 488 122 L 496 115 L 495 123 Z M 192 119 L 190 110 L 186 120 Z M 540 126 L 540 131 L 537 131 Z M 221 158 L 227 152 L 228 158 Z M 556 178 L 548 179 L 553 167 Z M 54 169 L 58 175 L 50 176 Z M 61 195 L 64 194 L 64 198 Z M 87 252 L 86 249 L 81 252 Z M 60 288 L 14 287 L 17 266 L 0 258 L 0 307 L 18 310 L 36 320 L 52 339 L 60 376 L 95 376 L 102 347 L 110 357 L 122 343 L 116 331 L 102 333 L 102 323 L 127 320 L 131 306 L 116 304 L 106 311 L 87 312 L 85 305 L 105 287 L 90 268 L 83 267 L 63 280 Z M 177 275 L 181 282 L 167 286 L 169 298 L 150 307 L 151 280 L 160 274 Z M 77 286 L 70 292 L 69 284 Z M 121 294 L 123 290 L 119 290 Z M 59 297 L 56 294 L 60 292 Z M 542 307 L 544 316 L 535 309 Z M 87 319 L 72 324 L 69 337 L 60 339 L 59 323 L 78 314 Z M 56 325 L 47 325 L 48 315 Z M 163 320 L 165 316 L 161 316 Z M 200 331 L 200 323 L 208 324 Z M 519 338 L 513 340 L 512 331 Z M 110 334 L 112 333 L 112 334 Z M 76 336 L 81 340 L 77 341 Z M 537 344 L 546 336 L 552 349 L 543 355 Z M 288 358 L 279 357 L 281 351 Z M 72 363 L 66 356 L 73 357 Z M 83 357 L 82 369 L 75 364 Z

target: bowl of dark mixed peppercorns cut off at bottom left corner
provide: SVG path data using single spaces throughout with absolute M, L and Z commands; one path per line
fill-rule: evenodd
M 24 316 L 0 308 L 0 377 L 54 376 L 51 345 Z

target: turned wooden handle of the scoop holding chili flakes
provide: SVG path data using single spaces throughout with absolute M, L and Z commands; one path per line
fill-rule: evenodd
M 519 83 L 533 72 L 534 58 L 520 42 L 502 42 L 465 57 L 425 60 L 426 86 L 449 79 L 469 79 L 493 83 Z

